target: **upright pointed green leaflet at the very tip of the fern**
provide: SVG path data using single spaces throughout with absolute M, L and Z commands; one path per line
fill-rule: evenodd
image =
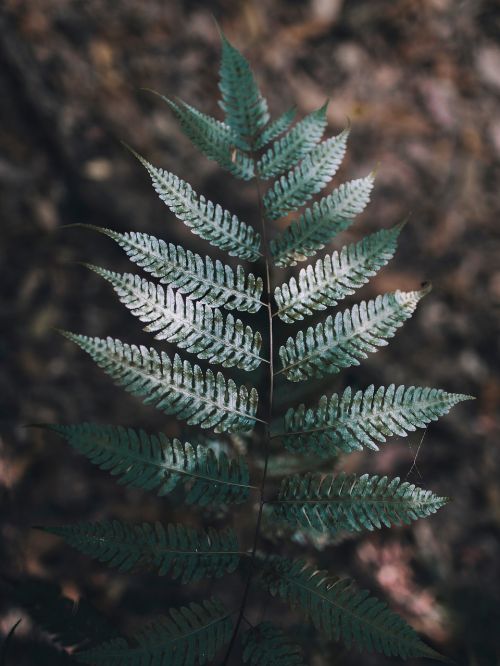
M 243 140 L 253 139 L 269 120 L 267 102 L 262 97 L 247 60 L 222 37 L 219 70 L 220 106 L 226 123 Z

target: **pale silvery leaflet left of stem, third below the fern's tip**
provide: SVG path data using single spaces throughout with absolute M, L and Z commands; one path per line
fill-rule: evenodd
M 242 266 L 233 270 L 228 264 L 201 257 L 180 245 L 136 231 L 118 232 L 93 225 L 78 225 L 112 238 L 135 264 L 162 284 L 171 284 L 182 294 L 210 307 L 257 312 L 262 307 L 262 278 L 245 273 Z

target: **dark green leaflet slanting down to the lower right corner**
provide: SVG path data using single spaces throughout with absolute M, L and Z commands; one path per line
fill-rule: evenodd
M 318 630 L 349 648 L 441 660 L 403 618 L 368 591 L 356 589 L 350 579 L 315 571 L 302 560 L 275 556 L 266 563 L 262 580 L 273 596 L 299 607 Z

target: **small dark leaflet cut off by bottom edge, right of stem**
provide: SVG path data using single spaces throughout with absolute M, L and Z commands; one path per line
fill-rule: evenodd
M 243 661 L 250 666 L 304 666 L 302 650 L 272 622 L 261 622 L 243 636 Z

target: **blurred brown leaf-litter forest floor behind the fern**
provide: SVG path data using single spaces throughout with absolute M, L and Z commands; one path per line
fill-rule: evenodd
M 361 295 L 414 289 L 424 280 L 434 289 L 388 349 L 329 389 L 347 381 L 395 382 L 477 397 L 427 431 L 348 462 L 352 470 L 399 474 L 453 503 L 411 528 L 326 547 L 315 560 L 387 599 L 458 664 L 500 664 L 500 7 L 494 0 L 3 0 L 0 632 L 5 636 L 22 618 L 5 663 L 69 663 L 30 619 L 48 606 L 23 610 L 13 581 L 22 581 L 28 595 L 39 585 L 39 599 L 56 583 L 71 600 L 69 615 L 86 599 L 126 631 L 212 591 L 111 572 L 31 530 L 111 517 L 191 516 L 200 524 L 203 516 L 124 489 L 56 437 L 23 426 L 93 420 L 175 432 L 175 423 L 115 388 L 55 332 L 146 339 L 109 287 L 78 265 L 127 270 L 120 250 L 104 237 L 61 227 L 136 229 L 206 251 L 158 201 L 121 140 L 256 221 L 253 189 L 200 157 L 161 100 L 141 90 L 177 95 L 220 117 L 213 16 L 250 59 L 274 115 L 292 104 L 305 114 L 329 98 L 328 132 L 350 119 L 350 150 L 336 184 L 379 165 L 371 205 L 334 247 L 412 213 L 396 258 Z M 247 531 L 250 509 L 238 518 Z M 291 551 L 304 552 L 298 545 Z M 233 602 L 241 594 L 237 576 L 222 587 Z M 268 607 L 254 594 L 249 613 L 259 618 L 264 606 L 268 618 L 281 617 L 304 634 L 314 666 L 391 661 L 321 640 L 313 647 L 304 623 L 279 604 Z

